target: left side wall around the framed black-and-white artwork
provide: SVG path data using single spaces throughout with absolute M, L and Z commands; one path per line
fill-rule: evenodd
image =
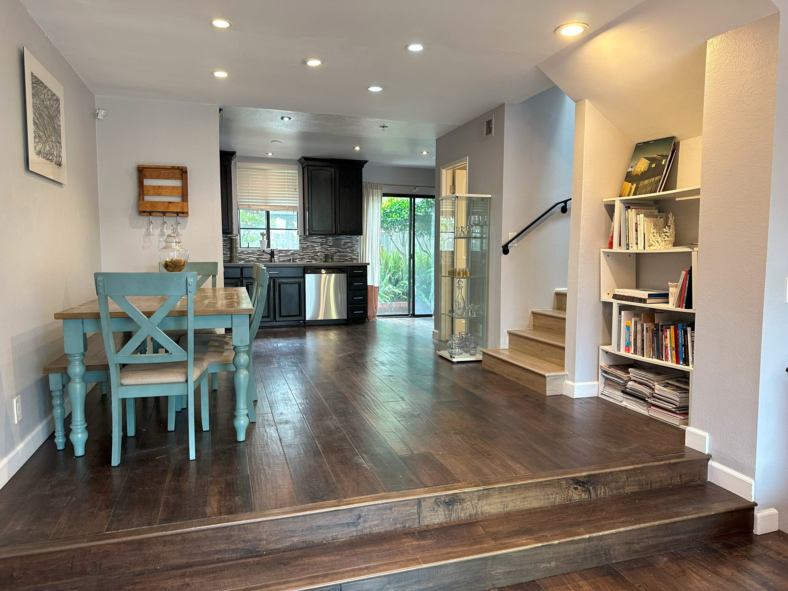
M 64 88 L 68 184 L 27 168 L 22 47 Z M 63 352 L 58 310 L 95 297 L 101 270 L 94 97 L 17 0 L 0 4 L 0 485 L 49 436 L 43 366 Z M 13 398 L 22 420 L 13 424 Z M 28 444 L 20 444 L 28 439 Z M 17 450 L 15 453 L 14 450 Z

